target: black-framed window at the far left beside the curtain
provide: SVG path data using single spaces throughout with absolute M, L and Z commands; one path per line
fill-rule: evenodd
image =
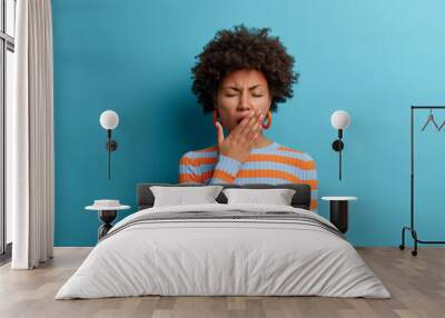
M 10 257 L 11 216 L 6 209 L 6 116 L 12 102 L 12 78 L 14 67 L 16 0 L 0 0 L 0 262 Z M 8 252 L 7 252 L 8 251 Z

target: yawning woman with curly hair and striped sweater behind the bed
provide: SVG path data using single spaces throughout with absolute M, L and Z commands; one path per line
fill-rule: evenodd
M 291 86 L 298 79 L 294 58 L 268 32 L 244 26 L 221 30 L 198 56 L 192 91 L 204 112 L 214 112 L 217 143 L 182 156 L 179 182 L 308 183 L 315 210 L 315 161 L 263 133 L 277 103 L 293 97 Z

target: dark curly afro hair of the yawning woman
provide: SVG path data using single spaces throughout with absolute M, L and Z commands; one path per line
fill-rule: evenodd
M 278 37 L 269 36 L 269 28 L 248 29 L 244 24 L 234 30 L 220 30 L 197 56 L 191 68 L 192 88 L 204 113 L 214 110 L 214 96 L 226 74 L 239 69 L 256 69 L 265 76 L 271 95 L 270 110 L 294 95 L 293 83 L 299 74 L 294 72 L 294 58 Z

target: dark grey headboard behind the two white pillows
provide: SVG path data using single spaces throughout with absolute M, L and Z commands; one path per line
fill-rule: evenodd
M 138 202 L 138 210 L 148 209 L 154 206 L 155 196 L 150 191 L 150 187 L 152 186 L 164 186 L 164 187 L 202 187 L 206 185 L 198 185 L 198 183 L 180 183 L 180 185 L 171 185 L 171 183 L 138 183 L 137 185 L 137 202 Z M 244 188 L 244 189 L 277 189 L 277 188 L 285 188 L 285 189 L 293 189 L 295 190 L 295 195 L 291 199 L 290 205 L 294 208 L 301 208 L 309 210 L 310 207 L 310 186 L 309 185 L 295 185 L 295 183 L 284 183 L 284 185 L 212 185 L 212 186 L 222 186 L 225 189 L 227 188 Z M 220 192 L 219 196 L 216 198 L 219 203 L 227 203 L 226 196 Z

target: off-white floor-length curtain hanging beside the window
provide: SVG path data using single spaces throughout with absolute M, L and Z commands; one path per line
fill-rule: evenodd
M 7 123 L 12 269 L 53 252 L 53 98 L 50 0 L 17 1 L 14 102 Z

